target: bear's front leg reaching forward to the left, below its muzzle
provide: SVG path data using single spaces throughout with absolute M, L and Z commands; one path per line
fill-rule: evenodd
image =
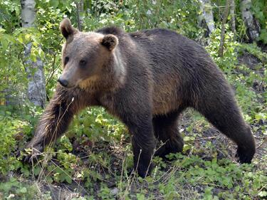
M 26 145 L 26 149 L 32 149 L 32 154 L 24 157 L 24 162 L 37 159 L 47 144 L 53 144 L 67 130 L 73 115 L 84 107 L 80 93 L 79 89 L 67 90 L 58 85 L 56 93 L 38 122 L 33 139 Z

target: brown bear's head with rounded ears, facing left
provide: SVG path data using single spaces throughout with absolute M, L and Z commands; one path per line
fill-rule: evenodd
M 63 19 L 60 29 L 66 43 L 62 48 L 63 73 L 58 82 L 66 88 L 85 88 L 90 80 L 102 75 L 118 39 L 112 34 L 80 32 L 73 28 L 69 19 Z

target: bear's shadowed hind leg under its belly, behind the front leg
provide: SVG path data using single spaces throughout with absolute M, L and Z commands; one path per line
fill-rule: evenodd
M 158 142 L 163 143 L 155 152 L 156 156 L 164 158 L 169 153 L 182 152 L 184 141 L 178 130 L 179 113 L 171 112 L 153 117 L 155 137 Z

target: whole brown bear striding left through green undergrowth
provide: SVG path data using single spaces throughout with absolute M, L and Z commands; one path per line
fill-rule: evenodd
M 61 136 L 73 115 L 98 105 L 128 127 L 134 167 L 141 177 L 150 173 L 153 154 L 182 151 L 177 123 L 187 107 L 237 144 L 241 163 L 251 162 L 251 129 L 223 73 L 196 42 L 161 28 L 125 33 L 109 27 L 83 33 L 69 19 L 63 19 L 60 28 L 66 38 L 63 73 L 27 145 L 33 154 L 26 161 Z M 164 145 L 155 152 L 157 140 Z

